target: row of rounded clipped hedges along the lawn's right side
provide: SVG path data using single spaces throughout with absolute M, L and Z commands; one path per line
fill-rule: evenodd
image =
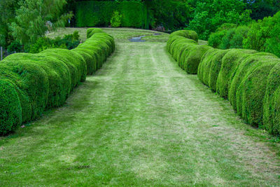
M 229 99 L 246 123 L 280 134 L 280 59 L 255 50 L 219 50 L 197 45 L 181 31 L 170 35 L 167 50 L 189 74 Z

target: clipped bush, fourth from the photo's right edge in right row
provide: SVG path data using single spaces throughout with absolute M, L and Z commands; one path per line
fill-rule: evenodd
M 222 59 L 221 69 L 218 74 L 216 90 L 221 97 L 228 97 L 230 78 L 239 63 L 248 57 L 249 54 L 256 53 L 255 50 L 232 49 Z

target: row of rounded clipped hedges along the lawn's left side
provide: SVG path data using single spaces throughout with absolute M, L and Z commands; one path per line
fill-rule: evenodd
M 113 37 L 99 30 L 73 50 L 6 57 L 0 63 L 0 134 L 38 118 L 45 109 L 62 106 L 71 90 L 102 67 L 114 49 Z

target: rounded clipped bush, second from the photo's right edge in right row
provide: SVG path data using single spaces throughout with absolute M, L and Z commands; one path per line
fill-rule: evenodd
M 267 77 L 279 60 L 263 58 L 259 65 L 248 69 L 237 89 L 237 113 L 251 125 L 262 125 L 263 100 L 267 88 Z

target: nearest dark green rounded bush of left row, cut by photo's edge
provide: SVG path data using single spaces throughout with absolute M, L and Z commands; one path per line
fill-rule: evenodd
M 15 130 L 22 123 L 22 109 L 15 85 L 0 78 L 0 134 Z

